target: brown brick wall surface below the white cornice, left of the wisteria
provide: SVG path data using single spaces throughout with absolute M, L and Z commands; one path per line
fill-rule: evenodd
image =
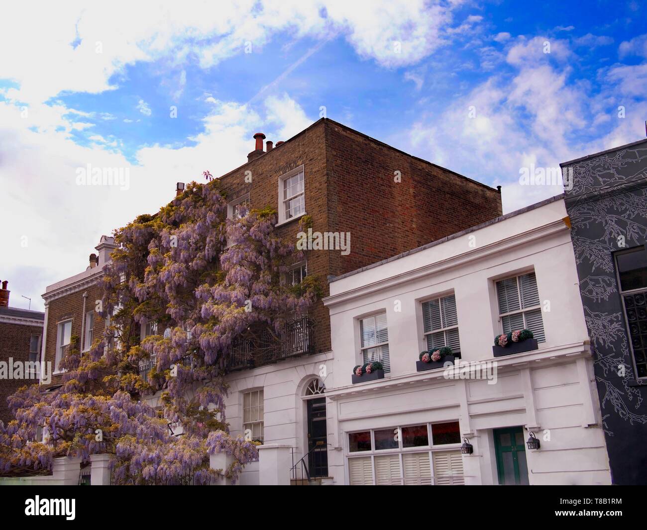
M 45 361 L 52 363 L 56 360 L 56 337 L 58 335 L 58 323 L 72 319 L 72 335 L 78 335 L 80 343 L 83 345 L 81 335 L 81 326 L 83 321 L 83 293 L 87 292 L 87 301 L 85 302 L 85 311 L 94 309 L 94 302 L 102 297 L 100 286 L 93 285 L 84 288 L 75 293 L 62 296 L 49 302 L 47 312 L 47 338 L 45 339 Z M 94 315 L 94 338 L 102 335 L 104 332 L 104 320 L 95 313 Z M 60 383 L 60 376 L 52 376 L 52 383 Z

